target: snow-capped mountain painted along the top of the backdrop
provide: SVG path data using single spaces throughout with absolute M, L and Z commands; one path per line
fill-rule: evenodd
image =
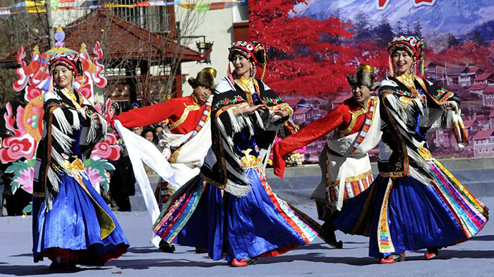
M 424 34 L 433 31 L 464 35 L 475 26 L 494 20 L 493 0 L 437 0 L 433 6 L 415 7 L 414 0 L 390 0 L 387 8 L 379 11 L 376 0 L 310 0 L 295 6 L 297 16 L 325 19 L 339 16 L 352 20 L 359 11 L 366 13 L 373 25 L 387 17 L 394 27 L 398 20 L 412 25 L 420 20 Z

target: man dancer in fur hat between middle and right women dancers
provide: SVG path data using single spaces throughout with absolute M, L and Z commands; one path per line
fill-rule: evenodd
M 371 97 L 379 87 L 374 81 L 374 68 L 361 65 L 354 75 L 347 75 L 353 97 L 339 104 L 326 116 L 284 138 L 273 148 L 275 175 L 283 178 L 284 156 L 329 133 L 320 156 L 323 180 L 311 195 L 318 207 L 318 218 L 325 221 L 330 244 L 342 248 L 336 240 L 332 218 L 344 200 L 359 195 L 372 183 L 373 176 L 367 152 L 378 145 L 380 131 L 378 97 Z

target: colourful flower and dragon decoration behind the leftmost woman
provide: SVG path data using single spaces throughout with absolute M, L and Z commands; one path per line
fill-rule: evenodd
M 11 163 L 11 166 L 6 169 L 6 173 L 13 173 L 12 193 L 15 193 L 19 188 L 32 193 L 35 152 L 43 132 L 43 94 L 49 91 L 53 84 L 48 70 L 48 61 L 50 57 L 56 54 L 77 52 L 64 47 L 65 33 L 60 26 L 55 32 L 55 39 L 55 48 L 44 53 L 40 53 L 39 48 L 35 46 L 32 49 L 29 63 L 24 61 L 26 54 L 22 46 L 17 55 L 20 68 L 16 69 L 18 80 L 13 83 L 12 87 L 16 92 L 24 92 L 24 99 L 27 104 L 18 106 L 16 111 L 13 111 L 11 103 L 6 104 L 5 125 L 8 130 L 12 131 L 13 135 L 5 137 L 0 148 L 0 161 L 3 164 Z M 94 103 L 95 87 L 104 88 L 107 85 L 107 79 L 102 76 L 104 66 L 100 64 L 103 56 L 100 43 L 96 42 L 92 49 L 93 58 L 88 54 L 85 44 L 81 44 L 78 54 L 83 63 L 84 74 L 78 76 L 73 85 L 84 97 Z M 114 111 L 111 108 L 110 100 L 104 105 L 104 110 L 100 103 L 96 104 L 95 108 L 100 113 L 110 118 L 113 117 Z M 85 170 L 97 191 L 99 191 L 100 186 L 105 191 L 109 190 L 108 171 L 114 170 L 114 166 L 108 160 L 116 161 L 119 158 L 120 146 L 117 144 L 115 135 L 109 133 L 107 140 L 96 144 L 90 159 L 84 161 Z M 25 208 L 25 211 L 29 210 L 29 207 Z

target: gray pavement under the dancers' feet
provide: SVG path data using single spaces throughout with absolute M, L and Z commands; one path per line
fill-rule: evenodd
M 481 197 L 494 207 L 493 197 Z M 299 204 L 316 217 L 311 202 Z M 232 268 L 226 261 L 211 261 L 191 247 L 177 246 L 174 254 L 150 245 L 151 220 L 145 211 L 117 212 L 116 217 L 131 248 L 105 266 L 79 266 L 74 273 L 49 271 L 49 261 L 34 264 L 30 254 L 31 217 L 0 218 L 0 276 L 494 276 L 494 223 L 471 240 L 441 250 L 438 259 L 423 260 L 423 251 L 409 252 L 406 261 L 381 265 L 367 257 L 368 238 L 337 233 L 344 249 L 334 250 L 319 238 L 278 257 L 259 258 L 258 264 Z

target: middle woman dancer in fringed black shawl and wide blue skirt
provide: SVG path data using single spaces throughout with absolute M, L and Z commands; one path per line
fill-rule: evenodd
M 205 247 L 212 259 L 248 266 L 311 242 L 317 235 L 272 192 L 264 173 L 271 144 L 291 108 L 262 80 L 265 66 L 258 42 L 235 42 L 229 51 L 234 72 L 219 81 L 212 103 L 212 152 L 200 176 L 178 190 L 155 223 L 167 242 Z

